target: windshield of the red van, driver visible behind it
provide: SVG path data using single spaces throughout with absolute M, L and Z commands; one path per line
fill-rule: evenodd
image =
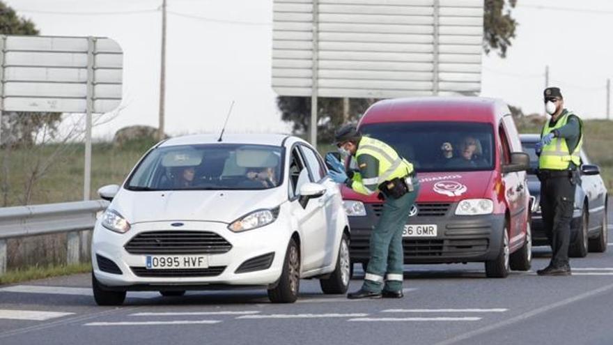
M 360 131 L 394 147 L 417 171 L 494 169 L 494 135 L 489 123 L 369 123 Z

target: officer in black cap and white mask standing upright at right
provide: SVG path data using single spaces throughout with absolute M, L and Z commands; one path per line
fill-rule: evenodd
M 551 118 L 536 143 L 538 178 L 541 180 L 541 213 L 545 233 L 551 243 L 549 266 L 538 275 L 571 275 L 568 245 L 575 205 L 575 187 L 580 183 L 580 150 L 583 144 L 581 119 L 564 109 L 560 89 L 545 89 L 545 109 Z

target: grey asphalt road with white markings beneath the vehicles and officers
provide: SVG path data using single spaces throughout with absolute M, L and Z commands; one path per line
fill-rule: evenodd
M 534 252 L 533 270 L 506 279 L 482 264 L 405 266 L 401 300 L 326 296 L 302 280 L 292 305 L 245 290 L 98 307 L 89 275 L 0 286 L 0 344 L 613 344 L 613 243 L 571 259 L 571 277 L 538 277 L 550 251 Z

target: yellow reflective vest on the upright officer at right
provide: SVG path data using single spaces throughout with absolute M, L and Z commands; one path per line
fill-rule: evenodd
M 550 126 L 551 118 L 545 123 L 543 126 L 543 132 L 541 133 L 541 137 L 548 135 L 553 130 L 557 130 L 558 128 L 562 128 L 568 122 L 568 116 L 573 115 L 571 112 L 566 112 L 564 116 L 558 119 L 554 126 Z M 576 116 L 576 115 L 575 115 Z M 577 116 L 577 118 L 579 118 Z M 579 142 L 577 143 L 577 147 L 573 152 L 568 151 L 568 146 L 566 145 L 566 139 L 554 137 L 550 144 L 543 146 L 543 150 L 541 151 L 541 156 L 538 158 L 538 168 L 539 169 L 551 169 L 551 170 L 566 170 L 568 169 L 568 165 L 570 162 L 575 163 L 575 166 L 579 167 L 581 164 L 581 157 L 579 155 L 581 151 L 581 146 L 583 144 L 583 122 L 579 118 L 580 123 L 580 133 L 579 133 Z

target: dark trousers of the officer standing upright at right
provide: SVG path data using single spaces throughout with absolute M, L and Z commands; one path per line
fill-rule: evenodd
M 551 266 L 568 265 L 574 205 L 575 184 L 571 183 L 571 178 L 560 176 L 542 179 L 541 213 L 545 234 L 551 243 Z

